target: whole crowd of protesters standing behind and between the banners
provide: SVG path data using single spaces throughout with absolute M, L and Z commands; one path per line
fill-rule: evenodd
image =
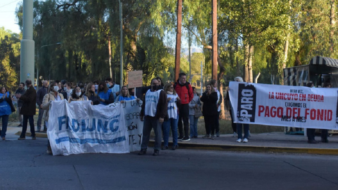
M 241 77 L 236 77 L 235 81 L 243 82 Z M 27 90 L 25 90 L 25 86 Z M 312 83 L 307 85 L 313 87 Z M 324 87 L 331 88 L 331 85 L 324 84 Z M 228 89 L 229 90 L 229 89 Z M 137 88 L 137 96 L 134 88 L 128 89 L 127 86 L 117 85 L 111 78 L 104 81 L 94 80 L 88 84 L 73 84 L 66 80 L 42 82 L 42 87 L 35 91 L 32 81 L 27 79 L 25 83 L 20 83 L 18 90 L 13 96 L 10 95 L 6 87 L 0 87 L 0 117 L 2 128 L 0 135 L 5 140 L 9 115 L 15 112 L 12 101 L 17 101 L 18 120 L 22 126 L 22 133 L 18 140 L 25 139 L 27 124 L 30 124 L 32 139 L 35 138 L 33 116 L 36 114 L 38 106 L 37 131 L 47 131 L 49 108 L 51 101 L 63 99 L 72 101 L 90 100 L 92 105 L 108 105 L 113 102 L 121 102 L 137 99 L 143 100 L 140 119 L 144 122 L 142 144 L 139 155 L 146 154 L 150 132 L 155 133 L 155 143 L 153 155 L 159 154 L 160 149 L 166 150 L 169 146 L 170 131 L 172 134 L 172 150 L 178 148 L 178 140 L 189 141 L 191 138 L 198 138 L 197 123 L 200 116 L 204 117 L 205 135 L 204 139 L 215 140 L 220 136 L 219 115 L 220 105 L 223 103 L 222 92 L 217 89 L 217 81 L 211 80 L 206 85 L 206 90 L 199 95 L 195 87 L 187 82 L 185 73 L 180 73 L 178 80 L 174 83 L 163 84 L 160 77 L 153 78 L 151 85 Z M 233 114 L 229 94 L 226 93 L 225 108 L 230 113 L 232 120 L 233 136 L 237 137 L 236 142 L 248 142 L 250 136 L 249 124 L 233 122 Z M 42 120 L 43 129 L 42 129 Z M 244 137 L 242 136 L 242 126 Z M 189 134 L 190 129 L 190 134 Z M 314 129 L 307 130 L 308 143 L 315 144 Z M 323 129 L 321 142 L 328 142 L 328 131 Z M 163 137 L 163 146 L 161 147 Z M 52 153 L 50 143 L 47 144 L 47 153 Z

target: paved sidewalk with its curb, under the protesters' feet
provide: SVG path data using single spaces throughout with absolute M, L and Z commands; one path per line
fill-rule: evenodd
M 15 140 L 21 134 L 22 127 L 7 127 L 7 140 Z M 26 137 L 29 138 L 30 132 Z M 46 133 L 37 133 L 38 138 L 47 138 Z M 315 139 L 320 141 L 320 136 Z M 237 137 L 232 134 L 220 135 L 215 140 L 203 139 L 202 135 L 190 141 L 178 141 L 178 148 L 201 150 L 227 150 L 227 151 L 253 151 L 253 152 L 285 152 L 285 153 L 311 153 L 323 155 L 338 155 L 338 135 L 328 137 L 329 143 L 308 144 L 304 135 L 285 135 L 283 132 L 251 134 L 248 143 L 236 142 Z M 149 146 L 153 146 L 151 138 Z M 169 150 L 172 146 L 172 138 L 169 138 Z

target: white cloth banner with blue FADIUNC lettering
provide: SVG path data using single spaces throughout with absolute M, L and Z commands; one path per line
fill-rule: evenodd
M 53 155 L 127 153 L 122 104 L 92 106 L 90 101 L 52 101 L 47 126 Z

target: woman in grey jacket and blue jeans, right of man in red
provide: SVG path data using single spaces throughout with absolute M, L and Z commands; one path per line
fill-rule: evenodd
M 194 97 L 189 103 L 189 121 L 190 121 L 190 138 L 197 138 L 197 123 L 198 123 L 198 118 L 196 117 L 197 114 L 197 109 L 201 108 L 201 102 L 199 99 L 199 96 L 197 94 L 196 88 L 191 87 L 194 93 Z

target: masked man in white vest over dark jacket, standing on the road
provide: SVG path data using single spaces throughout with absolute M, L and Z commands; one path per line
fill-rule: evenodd
M 161 125 L 167 116 L 168 101 L 163 90 L 159 90 L 159 81 L 151 80 L 151 88 L 144 96 L 140 119 L 143 121 L 143 136 L 139 155 L 145 155 L 148 148 L 151 129 L 154 129 L 155 143 L 153 156 L 159 155 L 162 141 Z

